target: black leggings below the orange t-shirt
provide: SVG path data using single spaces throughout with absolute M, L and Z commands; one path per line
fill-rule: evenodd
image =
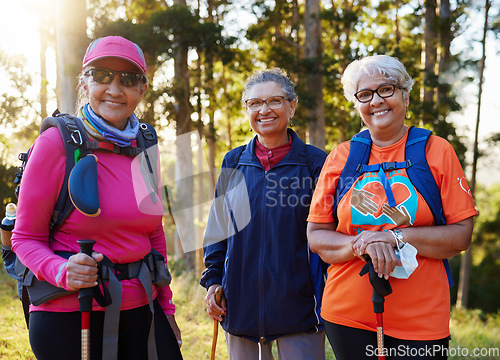
M 378 359 L 377 333 L 325 321 L 325 332 L 337 360 Z M 446 360 L 449 338 L 402 340 L 384 335 L 386 360 Z

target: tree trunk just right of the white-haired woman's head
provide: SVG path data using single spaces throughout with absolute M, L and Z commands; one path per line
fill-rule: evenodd
M 436 58 L 437 58 L 437 3 L 436 0 L 425 0 L 425 25 L 422 43 L 423 84 L 420 92 L 422 101 L 422 125 L 433 123 L 435 116 L 436 95 Z

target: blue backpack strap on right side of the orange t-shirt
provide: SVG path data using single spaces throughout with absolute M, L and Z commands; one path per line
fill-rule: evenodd
M 422 195 L 427 205 L 432 211 L 436 225 L 446 224 L 443 215 L 443 203 L 441 201 L 441 192 L 432 175 L 431 169 L 425 156 L 425 148 L 432 132 L 427 129 L 410 127 L 408 130 L 408 140 L 406 141 L 405 158 L 409 161 L 406 169 L 411 183 Z M 448 284 L 453 286 L 453 276 L 451 274 L 448 259 L 443 259 L 443 265 L 448 275 Z

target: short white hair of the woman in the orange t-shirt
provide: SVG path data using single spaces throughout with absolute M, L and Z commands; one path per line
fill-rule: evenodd
M 405 66 L 395 57 L 374 55 L 354 60 L 345 69 L 341 82 L 344 87 L 344 96 L 356 107 L 359 104 L 354 93 L 358 91 L 358 83 L 363 76 L 387 79 L 403 89 L 405 96 L 410 95 L 411 88 L 415 83 Z

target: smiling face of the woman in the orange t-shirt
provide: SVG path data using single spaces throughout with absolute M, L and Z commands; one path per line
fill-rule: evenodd
M 360 79 L 357 91 L 375 90 L 382 84 L 391 83 L 384 78 L 365 76 Z M 369 129 L 375 144 L 377 142 L 395 143 L 404 136 L 406 132 L 404 121 L 409 102 L 408 94 L 404 94 L 403 90 L 399 88 L 396 88 L 394 95 L 390 97 L 381 98 L 377 93 L 374 93 L 371 101 L 357 102 L 359 114 Z

